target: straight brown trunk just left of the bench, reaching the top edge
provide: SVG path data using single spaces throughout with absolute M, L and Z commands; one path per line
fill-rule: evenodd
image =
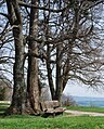
M 31 0 L 31 4 L 38 7 L 38 0 Z M 30 26 L 29 36 L 37 38 L 38 31 L 38 9 L 30 10 Z M 29 53 L 38 53 L 37 42 L 32 39 L 28 43 Z M 30 55 L 30 54 L 29 54 Z M 35 56 L 28 56 L 28 76 L 27 76 L 27 92 L 30 106 L 36 114 L 40 112 L 39 105 L 39 83 L 38 83 L 38 62 Z

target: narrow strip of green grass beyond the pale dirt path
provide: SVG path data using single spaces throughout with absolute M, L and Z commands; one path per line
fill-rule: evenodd
M 96 113 L 104 113 L 104 107 L 88 107 L 88 106 L 67 106 L 67 109 L 72 111 L 82 111 L 82 112 L 96 112 Z

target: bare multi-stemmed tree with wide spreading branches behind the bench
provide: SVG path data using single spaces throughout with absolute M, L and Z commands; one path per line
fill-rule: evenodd
M 96 27 L 94 17 L 94 5 L 99 3 L 77 0 L 50 3 L 43 0 L 41 4 L 49 10 L 65 9 L 55 14 L 44 10 L 41 14 L 39 36 L 44 41 L 52 100 L 61 101 L 69 79 L 96 88 L 103 82 L 103 39 L 98 34 L 102 30 Z

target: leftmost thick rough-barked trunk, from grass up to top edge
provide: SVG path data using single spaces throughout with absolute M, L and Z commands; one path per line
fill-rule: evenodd
M 23 43 L 23 25 L 22 16 L 18 11 L 17 1 L 6 0 L 6 7 L 10 14 L 10 24 L 13 26 L 13 37 L 15 46 L 15 63 L 14 63 L 14 88 L 12 104 L 9 107 L 9 114 L 23 114 L 25 107 L 25 82 L 24 82 L 24 43 Z

